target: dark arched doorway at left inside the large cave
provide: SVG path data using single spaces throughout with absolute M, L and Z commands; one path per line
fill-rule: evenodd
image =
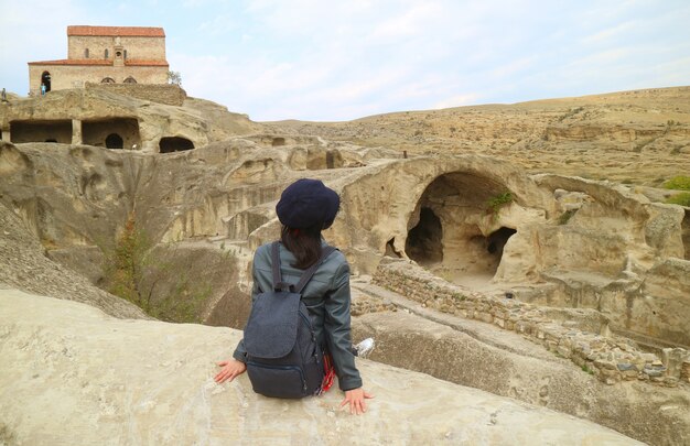
M 408 257 L 422 265 L 443 261 L 443 227 L 441 219 L 429 207 L 422 207 L 419 222 L 408 232 L 405 251 Z

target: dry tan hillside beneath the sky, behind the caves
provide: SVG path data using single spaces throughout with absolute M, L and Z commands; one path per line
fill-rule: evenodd
M 690 87 L 271 127 L 408 153 L 483 153 L 532 173 L 648 186 L 690 172 Z

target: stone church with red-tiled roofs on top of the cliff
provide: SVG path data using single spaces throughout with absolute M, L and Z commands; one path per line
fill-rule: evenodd
M 32 95 L 86 83 L 165 84 L 165 32 L 143 26 L 67 26 L 67 58 L 29 62 Z

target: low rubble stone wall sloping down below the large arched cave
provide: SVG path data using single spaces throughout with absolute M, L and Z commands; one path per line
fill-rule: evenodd
M 545 308 L 470 292 L 450 284 L 407 261 L 381 262 L 373 283 L 421 303 L 424 307 L 482 320 L 518 333 L 549 351 L 569 358 L 606 384 L 644 381 L 676 387 L 690 382 L 690 352 L 666 348 L 657 355 L 639 350 L 634 342 L 574 327 L 573 320 L 558 323 Z

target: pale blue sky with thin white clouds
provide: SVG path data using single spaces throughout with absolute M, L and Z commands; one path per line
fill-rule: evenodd
M 0 87 L 68 25 L 162 26 L 187 95 L 255 121 L 690 85 L 688 0 L 0 0 Z

